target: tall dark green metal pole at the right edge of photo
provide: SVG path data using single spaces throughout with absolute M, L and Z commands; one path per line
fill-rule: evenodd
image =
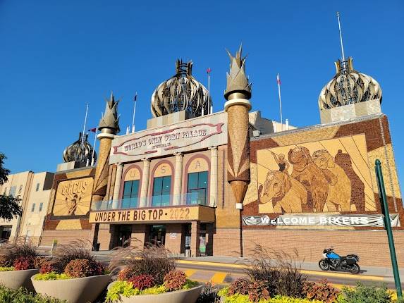
M 398 271 L 396 248 L 394 247 L 393 230 L 391 230 L 390 214 L 388 212 L 388 204 L 386 199 L 386 190 L 384 188 L 383 173 L 381 172 L 381 162 L 376 159 L 374 162 L 374 170 L 376 171 L 377 186 L 379 187 L 379 198 L 381 202 L 381 211 L 384 218 L 384 228 L 387 231 L 388 248 L 390 249 L 391 265 L 393 266 L 394 283 L 396 284 L 397 297 L 403 297 L 401 290 L 400 273 Z

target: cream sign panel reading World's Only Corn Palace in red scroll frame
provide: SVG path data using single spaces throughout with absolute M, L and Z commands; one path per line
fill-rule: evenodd
M 116 137 L 109 163 L 123 163 L 189 152 L 227 143 L 226 113 L 193 118 L 175 125 Z

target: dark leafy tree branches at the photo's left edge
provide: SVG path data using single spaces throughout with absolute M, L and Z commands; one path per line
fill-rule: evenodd
M 4 159 L 7 157 L 0 153 L 0 185 L 7 182 L 10 173 L 10 170 L 4 168 Z M 19 198 L 8 195 L 6 192 L 0 194 L 0 218 L 11 221 L 13 217 L 21 216 L 21 214 L 23 214 L 23 209 L 20 206 Z

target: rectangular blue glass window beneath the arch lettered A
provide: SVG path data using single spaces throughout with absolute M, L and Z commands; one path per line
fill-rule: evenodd
M 188 173 L 187 204 L 207 204 L 207 173 Z

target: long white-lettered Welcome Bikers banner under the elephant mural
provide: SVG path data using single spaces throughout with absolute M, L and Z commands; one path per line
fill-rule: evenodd
M 390 215 L 391 226 L 400 226 L 398 214 Z M 383 215 L 324 215 L 324 214 L 300 214 L 281 215 L 271 219 L 269 216 L 243 216 L 243 225 L 255 226 L 360 226 L 360 227 L 384 227 Z

